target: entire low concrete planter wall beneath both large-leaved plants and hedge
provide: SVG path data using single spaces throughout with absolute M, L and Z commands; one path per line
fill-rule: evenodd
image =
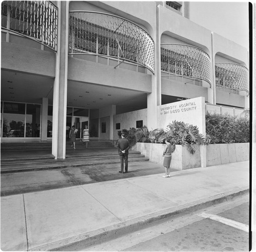
M 151 162 L 163 164 L 164 144 L 136 143 L 133 150 L 141 152 Z M 206 166 L 226 163 L 236 163 L 249 160 L 249 143 L 222 143 L 206 145 Z M 200 146 L 196 145 L 196 153 L 191 155 L 186 147 L 176 145 L 171 166 L 175 169 L 185 170 L 202 167 Z

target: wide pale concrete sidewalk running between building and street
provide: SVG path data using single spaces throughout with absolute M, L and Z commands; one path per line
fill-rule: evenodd
M 249 189 L 249 161 L 162 175 L 1 197 L 1 249 L 79 249 Z

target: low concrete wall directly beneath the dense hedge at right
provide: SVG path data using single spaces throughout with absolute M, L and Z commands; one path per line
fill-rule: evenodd
M 221 143 L 206 146 L 206 165 L 236 163 L 249 160 L 249 143 Z

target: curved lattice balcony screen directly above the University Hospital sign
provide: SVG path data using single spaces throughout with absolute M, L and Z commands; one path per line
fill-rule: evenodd
M 206 81 L 211 86 L 210 57 L 202 49 L 184 44 L 161 44 L 162 76 Z

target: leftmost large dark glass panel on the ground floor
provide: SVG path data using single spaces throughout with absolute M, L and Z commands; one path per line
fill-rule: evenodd
M 3 137 L 24 137 L 25 104 L 4 103 Z

